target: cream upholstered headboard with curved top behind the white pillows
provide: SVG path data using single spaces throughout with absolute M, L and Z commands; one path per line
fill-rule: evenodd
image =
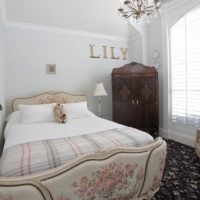
M 47 103 L 73 103 L 87 101 L 85 95 L 73 95 L 65 92 L 46 92 L 32 97 L 17 98 L 13 100 L 13 111 L 18 110 L 19 104 L 47 104 Z

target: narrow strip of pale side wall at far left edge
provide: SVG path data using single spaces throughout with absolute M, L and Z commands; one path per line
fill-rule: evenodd
M 3 143 L 3 127 L 4 127 L 4 112 L 5 112 L 5 91 L 4 91 L 4 41 L 3 41 L 3 26 L 0 11 L 0 104 L 3 106 L 3 111 L 0 111 L 0 154 Z

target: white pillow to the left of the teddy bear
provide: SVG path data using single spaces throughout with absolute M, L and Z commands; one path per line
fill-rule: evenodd
M 42 122 L 54 122 L 54 107 L 52 104 L 19 105 L 21 123 L 32 124 Z

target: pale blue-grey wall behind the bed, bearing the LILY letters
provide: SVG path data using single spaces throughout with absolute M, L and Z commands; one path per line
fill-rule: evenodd
M 71 35 L 65 32 L 29 30 L 7 27 L 5 29 L 6 104 L 11 111 L 11 100 L 39 92 L 62 90 L 86 94 L 89 108 L 97 113 L 97 98 L 92 96 L 96 81 L 103 81 L 108 92 L 102 99 L 102 114 L 111 118 L 111 72 L 130 60 L 91 59 L 89 44 L 95 44 L 96 54 L 102 45 L 128 47 L 127 40 L 110 40 Z M 108 52 L 110 57 L 110 53 Z M 56 64 L 56 75 L 46 74 L 46 64 Z

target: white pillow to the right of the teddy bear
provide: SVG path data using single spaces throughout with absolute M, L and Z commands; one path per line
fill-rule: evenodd
M 77 103 L 66 103 L 63 104 L 63 107 L 68 119 L 78 119 L 94 115 L 88 110 L 86 101 Z

